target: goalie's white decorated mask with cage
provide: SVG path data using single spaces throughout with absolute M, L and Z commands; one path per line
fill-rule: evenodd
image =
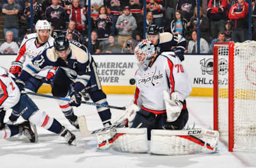
M 141 41 L 134 49 L 139 68 L 146 70 L 151 62 L 151 58 L 156 55 L 155 46 L 149 40 Z

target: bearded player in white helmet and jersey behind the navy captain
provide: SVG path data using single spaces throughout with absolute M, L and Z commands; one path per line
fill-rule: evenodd
M 23 67 L 25 67 L 28 62 L 30 62 L 38 54 L 41 54 L 44 49 L 53 46 L 54 39 L 51 35 L 51 24 L 47 20 L 38 20 L 35 25 L 36 32 L 30 33 L 25 36 L 19 52 L 15 61 L 11 63 L 9 72 L 18 77 Z M 51 78 L 54 75 L 54 70 L 45 69 L 38 75 L 43 77 Z M 43 81 L 36 78 L 30 78 L 26 81 L 25 88 L 27 90 L 37 92 L 39 87 L 41 87 Z M 17 120 L 17 115 L 13 114 L 10 116 L 10 123 L 14 123 Z

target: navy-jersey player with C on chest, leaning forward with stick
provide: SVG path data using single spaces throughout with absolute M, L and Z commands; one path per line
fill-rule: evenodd
M 22 84 L 49 65 L 58 66 L 52 79 L 52 94 L 73 99 L 68 103 L 59 100 L 59 105 L 65 117 L 76 128 L 79 128 L 78 120 L 71 106 L 81 105 L 81 91 L 89 93 L 94 103 L 108 104 L 101 90 L 96 64 L 84 45 L 75 40 L 68 41 L 63 35 L 58 36 L 53 47 L 47 48 L 23 68 L 17 81 Z M 97 107 L 97 111 L 103 124 L 111 124 L 109 108 Z

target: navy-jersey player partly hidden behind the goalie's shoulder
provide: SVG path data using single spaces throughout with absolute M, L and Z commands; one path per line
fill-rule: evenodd
M 175 55 L 184 60 L 184 51 L 187 46 L 186 39 L 181 35 L 173 35 L 170 32 L 161 32 L 156 24 L 151 24 L 147 28 L 147 38 L 156 47 L 157 53 L 173 51 Z

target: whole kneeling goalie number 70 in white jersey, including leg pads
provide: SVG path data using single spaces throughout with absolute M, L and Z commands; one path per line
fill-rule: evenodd
M 121 152 L 181 155 L 215 152 L 218 131 L 182 130 L 188 121 L 186 98 L 191 93 L 188 73 L 173 52 L 157 54 L 149 40 L 134 49 L 139 69 L 135 73 L 134 100 L 119 120 L 130 128 L 116 128 L 97 136 L 98 147 Z M 118 121 L 118 120 L 117 120 Z

